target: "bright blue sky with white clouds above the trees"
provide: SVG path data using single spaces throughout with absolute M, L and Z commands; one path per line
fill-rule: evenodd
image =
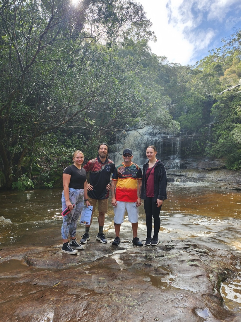
M 169 62 L 195 64 L 241 28 L 240 0 L 137 0 L 152 22 L 153 53 Z

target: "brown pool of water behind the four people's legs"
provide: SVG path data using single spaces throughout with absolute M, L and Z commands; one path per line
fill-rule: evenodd
M 49 243 L 46 238 L 52 235 L 59 235 L 61 239 L 61 193 L 60 189 L 1 192 L 0 243 Z M 228 228 L 229 236 L 223 237 L 227 238 L 228 243 L 239 247 L 240 197 L 240 191 L 213 189 L 202 184 L 169 184 L 168 199 L 161 210 L 160 237 L 176 239 L 212 235 L 219 238 L 219 234 L 224 233 L 223 228 Z M 107 235 L 114 236 L 113 217 L 113 207 L 109 202 L 104 229 Z M 96 216 L 94 224 L 97 225 Z M 129 225 L 128 220 L 122 227 L 125 224 Z M 81 234 L 83 229 L 84 226 L 79 224 Z M 143 203 L 139 207 L 138 230 L 145 238 Z

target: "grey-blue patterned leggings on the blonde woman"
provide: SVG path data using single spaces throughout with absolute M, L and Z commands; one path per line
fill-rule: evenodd
M 69 200 L 72 204 L 75 204 L 70 213 L 63 217 L 63 223 L 61 227 L 61 235 L 63 239 L 68 239 L 68 236 L 76 236 L 77 220 L 81 215 L 84 207 L 84 189 L 69 188 Z M 65 203 L 64 192 L 62 193 L 62 210 L 64 211 L 67 206 Z

